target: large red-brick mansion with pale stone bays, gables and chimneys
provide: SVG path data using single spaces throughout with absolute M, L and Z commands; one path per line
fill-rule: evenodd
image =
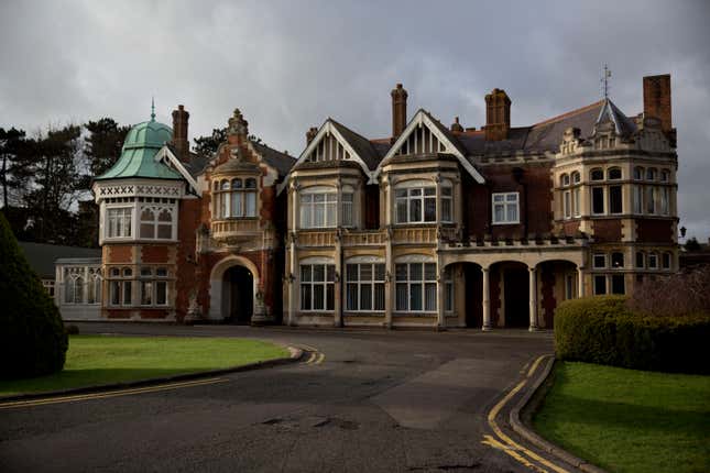
M 670 76 L 643 79 L 637 116 L 604 98 L 528 127 L 501 89 L 480 129 L 391 99 L 389 136 L 327 119 L 297 158 L 239 110 L 210 156 L 183 106 L 133 127 L 94 182 L 97 317 L 535 330 L 678 270 Z M 66 270 L 59 300 L 89 284 Z

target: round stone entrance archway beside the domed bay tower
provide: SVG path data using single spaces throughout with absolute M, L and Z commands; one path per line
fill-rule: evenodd
M 237 270 L 234 273 L 242 273 L 241 276 L 237 278 L 238 284 L 244 284 L 248 282 L 245 273 L 251 274 L 251 304 L 244 304 L 243 298 L 239 301 L 238 297 L 233 297 L 233 279 L 234 275 L 228 273 L 228 271 L 234 266 L 240 266 L 243 271 Z M 237 285 L 238 285 L 237 284 Z M 249 293 L 248 290 L 245 292 Z M 256 265 L 249 261 L 248 258 L 239 255 L 229 255 L 220 260 L 210 272 L 209 275 L 209 314 L 208 318 L 210 320 L 229 320 L 232 317 L 234 304 L 241 305 L 243 307 L 252 308 L 251 319 L 253 320 L 253 315 L 258 311 L 258 308 L 261 306 L 258 300 L 259 295 L 259 270 Z M 242 321 L 242 320 L 240 320 Z

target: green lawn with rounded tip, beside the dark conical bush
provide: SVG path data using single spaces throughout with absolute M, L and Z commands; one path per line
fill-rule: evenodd
M 72 336 L 61 373 L 0 381 L 0 396 L 217 370 L 287 355 L 285 348 L 259 340 Z

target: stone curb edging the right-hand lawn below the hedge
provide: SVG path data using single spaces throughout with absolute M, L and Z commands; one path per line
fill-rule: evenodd
M 515 407 L 511 409 L 510 416 L 509 416 L 510 425 L 517 435 L 520 435 L 521 437 L 523 437 L 524 439 L 526 439 L 527 441 L 529 441 L 540 450 L 564 461 L 565 463 L 568 463 L 583 471 L 585 473 L 607 473 L 605 470 L 602 470 L 599 466 L 587 462 L 586 460 L 577 458 L 571 453 L 569 453 L 567 450 L 564 450 L 562 448 L 543 439 L 536 432 L 528 429 L 521 420 L 521 410 L 529 403 L 531 398 L 535 393 L 537 393 L 537 391 L 543 385 L 545 380 L 548 378 L 549 374 L 553 371 L 554 365 L 555 365 L 555 356 L 551 355 L 547 361 L 547 364 L 545 366 L 545 370 L 543 371 L 543 374 L 537 377 L 537 380 L 533 383 L 532 388 L 527 389 L 527 393 L 525 393 L 525 395 L 517 402 Z

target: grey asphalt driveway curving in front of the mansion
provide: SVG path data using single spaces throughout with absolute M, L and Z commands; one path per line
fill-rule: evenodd
M 529 471 L 482 443 L 551 333 L 85 323 L 313 350 L 214 383 L 0 410 L 0 471 Z

